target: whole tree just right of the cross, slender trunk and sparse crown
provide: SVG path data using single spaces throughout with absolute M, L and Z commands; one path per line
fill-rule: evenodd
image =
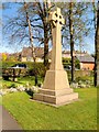
M 63 28 L 63 46 L 70 47 L 72 56 L 72 81 L 75 80 L 75 50 L 82 46 L 82 40 L 89 35 L 90 26 L 89 20 L 86 16 L 89 13 L 90 3 L 84 2 L 66 2 L 58 3 L 66 20 Z M 86 45 L 84 45 L 86 46 Z

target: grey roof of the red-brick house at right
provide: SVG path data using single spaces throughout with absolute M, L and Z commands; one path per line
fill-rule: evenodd
M 87 56 L 77 56 L 78 61 L 81 63 L 95 63 L 95 58 L 90 55 Z

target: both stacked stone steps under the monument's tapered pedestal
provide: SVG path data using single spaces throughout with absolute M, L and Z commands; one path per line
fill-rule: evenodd
M 54 106 L 63 106 L 76 101 L 78 94 L 73 92 L 70 88 L 62 90 L 40 89 L 40 92 L 34 95 L 34 99 Z

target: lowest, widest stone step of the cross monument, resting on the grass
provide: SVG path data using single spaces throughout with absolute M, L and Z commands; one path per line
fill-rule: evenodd
M 34 100 L 61 106 L 63 103 L 68 103 L 68 102 L 72 102 L 74 100 L 77 100 L 78 94 L 72 92 L 72 94 L 67 94 L 67 95 L 63 95 L 63 96 L 51 96 L 51 95 L 44 95 L 44 94 L 35 94 L 33 98 L 34 98 Z

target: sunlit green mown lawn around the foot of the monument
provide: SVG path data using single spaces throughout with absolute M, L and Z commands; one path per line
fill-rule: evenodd
M 54 108 L 31 101 L 25 92 L 3 96 L 3 106 L 24 130 L 96 130 L 97 89 L 76 89 L 79 100 Z

